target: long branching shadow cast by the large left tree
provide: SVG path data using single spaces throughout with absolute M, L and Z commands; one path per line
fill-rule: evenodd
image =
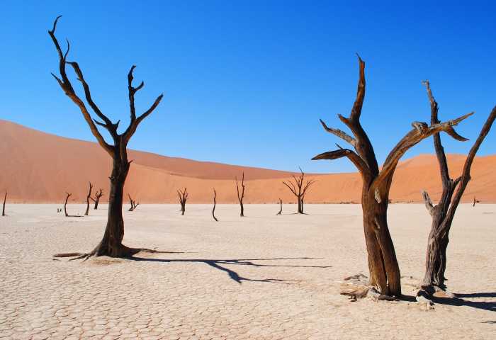
M 315 257 L 285 257 L 285 258 L 276 258 L 276 259 L 227 259 L 227 260 L 213 260 L 213 259 L 154 259 L 154 258 L 144 258 L 144 257 L 135 257 L 133 256 L 130 260 L 133 261 L 150 261 L 150 262 L 186 262 L 186 263 L 205 263 L 208 266 L 211 266 L 220 271 L 225 271 L 227 275 L 232 280 L 235 280 L 237 283 L 241 284 L 242 281 L 252 281 L 252 282 L 268 282 L 268 283 L 285 283 L 286 281 L 300 281 L 300 280 L 281 280 L 278 278 L 265 278 L 261 280 L 256 280 L 252 278 L 244 278 L 243 276 L 239 276 L 238 273 L 233 271 L 232 269 L 226 268 L 221 265 L 238 265 L 238 266 L 254 266 L 254 267 L 291 267 L 291 268 L 331 268 L 331 266 L 294 266 L 294 265 L 281 265 L 281 264 L 259 264 L 254 263 L 252 261 L 274 261 L 274 260 L 294 260 L 294 259 L 320 259 Z

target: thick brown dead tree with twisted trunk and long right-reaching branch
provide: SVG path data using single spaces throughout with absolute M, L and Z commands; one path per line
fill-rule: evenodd
M 360 123 L 361 108 L 365 98 L 365 62 L 359 57 L 359 84 L 356 100 L 349 118 L 338 115 L 339 120 L 346 125 L 353 136 L 346 132 L 328 128 L 320 120 L 327 132 L 348 142 L 354 150 L 339 147 L 335 151 L 318 154 L 312 159 L 338 159 L 347 157 L 359 170 L 362 179 L 361 207 L 363 210 L 363 229 L 368 254 L 368 269 L 370 271 L 369 283 L 383 295 L 401 295 L 400 267 L 396 259 L 393 240 L 388 229 L 388 200 L 393 174 L 400 158 L 408 149 L 421 140 L 434 135 L 436 132 L 445 131 L 453 137 L 453 125 L 457 125 L 472 113 L 461 118 L 449 120 L 445 123 L 427 125 L 414 122 L 413 129 L 391 150 L 385 159 L 381 171 L 368 135 Z

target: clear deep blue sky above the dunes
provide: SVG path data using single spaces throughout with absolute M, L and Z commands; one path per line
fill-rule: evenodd
M 368 1 L 372 2 L 372 1 Z M 94 100 L 129 119 L 126 75 L 145 80 L 143 111 L 164 100 L 130 147 L 190 159 L 306 171 L 354 171 L 342 159 L 310 158 L 344 128 L 356 94 L 355 53 L 366 61 L 362 124 L 382 162 L 414 120 L 429 121 L 421 81 L 431 81 L 443 119 L 470 111 L 458 132 L 473 141 L 496 105 L 493 1 L 2 1 L 0 118 L 67 137 L 94 137 L 50 72 L 47 30 L 69 38 Z M 434 2 L 436 4 L 434 4 Z M 77 80 L 73 84 L 81 91 Z M 80 92 L 82 94 L 82 92 Z M 496 128 L 495 128 L 496 130 Z M 443 137 L 446 151 L 471 142 Z M 496 132 L 480 154 L 496 153 Z M 433 152 L 432 140 L 407 157 Z

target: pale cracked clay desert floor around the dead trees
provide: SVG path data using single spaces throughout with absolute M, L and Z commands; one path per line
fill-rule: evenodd
M 496 334 L 496 205 L 461 205 L 446 277 L 461 300 L 351 302 L 339 280 L 368 274 L 359 205 L 140 205 L 125 244 L 136 259 L 54 260 L 100 240 L 106 205 L 7 205 L 0 217 L 1 339 L 490 339 Z M 69 205 L 83 213 L 84 205 Z M 395 204 L 390 231 L 403 293 L 422 277 L 430 217 Z

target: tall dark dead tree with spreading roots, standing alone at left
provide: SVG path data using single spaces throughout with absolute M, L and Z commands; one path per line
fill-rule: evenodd
M 108 195 L 108 219 L 105 232 L 103 233 L 103 238 L 101 242 L 89 253 L 79 254 L 78 258 L 88 258 L 89 256 L 113 256 L 113 257 L 125 257 L 132 256 L 143 249 L 133 249 L 128 246 L 123 245 L 124 237 L 124 221 L 123 221 L 123 191 L 125 179 L 128 176 L 128 171 L 130 167 L 130 161 L 128 161 L 128 142 L 133 137 L 136 129 L 140 123 L 147 118 L 150 113 L 154 111 L 155 108 L 162 101 L 162 94 L 155 99 L 154 103 L 150 108 L 139 116 L 136 116 L 135 110 L 135 94 L 137 91 L 143 88 L 144 83 L 141 82 L 137 87 L 133 86 L 133 71 L 135 66 L 130 68 L 128 73 L 128 92 L 129 92 L 129 106 L 130 106 L 130 123 L 128 128 L 124 132 L 118 133 L 119 122 L 113 123 L 107 115 L 104 115 L 100 108 L 96 105 L 91 98 L 91 93 L 89 85 L 83 77 L 83 72 L 79 67 L 77 62 L 68 62 L 67 55 L 69 53 L 69 43 L 67 43 L 67 51 L 62 52 L 57 38 L 55 37 L 55 29 L 57 27 L 57 21 L 60 18 L 57 17 L 53 23 L 52 30 L 48 31 L 50 38 L 55 45 L 57 54 L 59 57 L 59 72 L 60 77 L 55 74 L 52 76 L 57 80 L 60 88 L 64 93 L 76 104 L 76 106 L 81 111 L 84 120 L 89 125 L 91 132 L 98 141 L 98 144 L 109 154 L 113 160 L 112 173 L 110 178 L 111 188 Z M 67 77 L 66 66 L 69 65 L 74 69 L 77 79 L 81 82 L 84 89 L 84 96 L 86 102 L 89 104 L 94 113 L 98 116 L 100 120 L 94 120 L 91 118 L 91 114 L 86 108 L 86 104 L 77 96 L 74 88 Z M 105 128 L 112 137 L 112 143 L 109 144 L 98 131 L 97 125 Z M 74 253 L 70 253 L 74 254 Z M 57 254 L 56 256 L 68 256 L 68 254 Z

